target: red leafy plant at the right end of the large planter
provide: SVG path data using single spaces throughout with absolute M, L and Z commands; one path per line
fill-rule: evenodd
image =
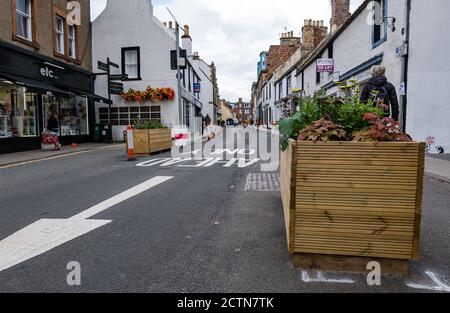
M 353 133 L 353 141 L 412 141 L 411 137 L 400 130 L 400 123 L 390 117 L 379 118 L 375 113 L 367 113 L 363 117 L 369 127 Z

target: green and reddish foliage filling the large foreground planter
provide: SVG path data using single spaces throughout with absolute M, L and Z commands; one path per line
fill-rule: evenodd
M 398 122 L 386 117 L 384 104 L 370 100 L 362 103 L 359 87 L 352 83 L 348 88 L 344 98 L 325 98 L 319 92 L 300 100 L 300 111 L 280 121 L 281 149 L 286 150 L 291 138 L 312 141 L 410 140 L 400 131 Z

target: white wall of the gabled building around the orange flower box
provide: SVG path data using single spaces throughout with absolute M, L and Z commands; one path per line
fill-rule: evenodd
M 149 0 L 109 0 L 106 9 L 92 23 L 93 65 L 97 61 L 111 61 L 121 64 L 122 47 L 140 47 L 140 81 L 124 83 L 124 89 L 145 90 L 171 87 L 177 90 L 175 71 L 170 69 L 170 50 L 175 48 L 175 35 L 153 16 L 153 6 Z M 121 73 L 115 70 L 116 74 Z M 107 96 L 104 76 L 95 82 L 96 93 Z M 178 95 L 177 95 L 178 97 Z M 129 106 L 120 96 L 113 96 L 114 106 Z M 177 99 L 161 102 L 162 120 L 175 125 L 178 121 Z M 133 105 L 133 104 L 131 104 Z M 142 104 L 143 105 L 143 104 Z M 97 104 L 97 108 L 105 106 Z M 97 109 L 98 119 L 98 109 Z M 122 140 L 125 126 L 114 126 L 114 140 Z

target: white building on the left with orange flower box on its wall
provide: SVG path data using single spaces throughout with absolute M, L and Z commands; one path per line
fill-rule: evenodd
M 182 90 L 178 94 L 176 70 L 171 69 L 170 51 L 176 49 L 175 24 L 161 23 L 153 15 L 149 0 L 108 0 L 106 9 L 92 23 L 93 64 L 105 62 L 109 57 L 120 65 L 113 74 L 127 74 L 124 91 L 144 91 L 153 88 L 172 88 L 175 99 L 160 102 L 127 103 L 121 96 L 113 95 L 111 110 L 113 139 L 123 140 L 126 126 L 137 119 L 160 120 L 168 126 L 187 125 L 191 132 L 202 131 L 202 113 L 210 110 L 210 102 L 202 93 L 194 93 L 194 84 L 201 83 L 202 91 L 209 93 L 207 79 L 201 78 L 205 66 L 196 64 L 192 57 L 192 39 L 189 28 L 185 30 L 182 42 L 187 50 L 187 69 L 182 73 Z M 105 76 L 98 76 L 96 92 L 107 97 Z M 178 97 L 182 97 L 182 121 L 179 118 Z M 96 105 L 97 121 L 108 123 L 108 106 Z M 204 115 L 205 116 L 205 115 Z M 211 116 L 211 115 L 210 115 Z

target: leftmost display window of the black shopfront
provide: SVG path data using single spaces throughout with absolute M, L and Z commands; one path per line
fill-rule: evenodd
M 38 135 L 37 95 L 12 83 L 0 83 L 0 138 Z

